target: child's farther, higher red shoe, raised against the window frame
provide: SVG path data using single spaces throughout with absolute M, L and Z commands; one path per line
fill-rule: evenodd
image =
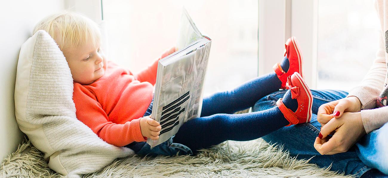
M 282 89 L 286 89 L 287 78 L 294 72 L 298 72 L 303 78 L 303 58 L 295 36 L 288 38 L 285 44 L 284 56 L 286 56 L 289 61 L 288 71 L 284 72 L 279 62 L 276 63 L 273 67 L 277 77 L 282 82 Z

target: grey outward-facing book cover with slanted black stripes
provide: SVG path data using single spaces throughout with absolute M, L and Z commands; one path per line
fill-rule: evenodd
M 147 140 L 151 148 L 175 135 L 187 120 L 200 116 L 211 46 L 210 40 L 201 41 L 188 48 L 189 52 L 182 51 L 185 55 L 177 55 L 177 60 L 171 58 L 174 62 L 166 61 L 166 66 L 159 62 L 163 66 L 163 73 L 156 83 L 151 116 L 161 124 L 162 129 L 158 140 Z

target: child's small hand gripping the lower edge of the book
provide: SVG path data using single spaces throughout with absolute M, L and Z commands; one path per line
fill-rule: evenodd
M 151 140 L 158 140 L 161 129 L 162 126 L 158 121 L 151 119 L 149 116 L 140 119 L 140 130 L 142 131 L 143 137 L 151 138 Z

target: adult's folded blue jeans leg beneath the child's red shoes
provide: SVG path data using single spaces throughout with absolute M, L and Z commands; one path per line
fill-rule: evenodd
M 286 90 L 271 93 L 258 100 L 253 111 L 261 111 L 272 108 L 276 101 L 281 98 Z M 298 159 L 310 159 L 309 163 L 317 164 L 324 168 L 332 166 L 332 171 L 345 172 L 346 175 L 353 174 L 357 177 L 368 171 L 366 166 L 357 156 L 355 146 L 345 153 L 334 155 L 320 155 L 314 148 L 315 138 L 320 132 L 320 123 L 317 121 L 317 111 L 320 105 L 334 100 L 345 98 L 348 93 L 335 90 L 311 90 L 313 95 L 313 116 L 310 123 L 297 124 L 289 127 L 283 127 L 264 137 L 267 142 L 284 145 L 290 156 Z

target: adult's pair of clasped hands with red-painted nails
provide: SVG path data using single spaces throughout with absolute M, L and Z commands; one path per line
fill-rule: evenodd
M 317 113 L 322 127 L 314 142 L 315 149 L 322 155 L 348 151 L 366 134 L 360 111 L 361 102 L 354 96 L 322 104 Z

